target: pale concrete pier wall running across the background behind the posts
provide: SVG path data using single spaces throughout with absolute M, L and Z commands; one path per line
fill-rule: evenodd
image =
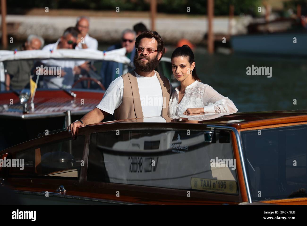
M 233 18 L 232 34 L 246 32 L 246 25 L 251 18 Z M 46 41 L 56 41 L 69 26 L 75 26 L 76 17 L 72 16 L 34 16 L 34 15 L 7 15 L 8 37 L 24 40 L 29 34 L 41 35 Z M 143 22 L 149 29 L 149 17 L 90 17 L 89 34 L 99 42 L 116 42 L 122 30 L 132 29 L 138 22 Z M 228 33 L 229 17 L 216 17 L 213 20 L 213 33 Z M 163 37 L 165 43 L 175 44 L 178 40 L 186 38 L 194 44 L 204 40 L 208 31 L 206 17 L 191 18 L 157 18 L 156 30 Z

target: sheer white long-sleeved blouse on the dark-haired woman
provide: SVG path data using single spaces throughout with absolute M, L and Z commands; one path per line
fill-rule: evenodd
M 179 90 L 175 88 L 169 100 L 169 115 L 181 115 L 188 108 L 204 108 L 204 113 L 235 113 L 238 109 L 228 97 L 216 92 L 210 85 L 195 81 L 185 88 L 185 94 L 178 104 Z

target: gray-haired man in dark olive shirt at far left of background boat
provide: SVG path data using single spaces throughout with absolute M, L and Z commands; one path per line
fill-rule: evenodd
M 44 39 L 40 36 L 30 34 L 27 41 L 17 47 L 17 51 L 22 50 L 39 50 L 44 46 Z M 33 60 L 18 60 L 8 61 L 4 64 L 5 68 L 5 84 L 6 90 L 23 89 L 29 86 L 30 75 L 33 73 L 34 61 Z

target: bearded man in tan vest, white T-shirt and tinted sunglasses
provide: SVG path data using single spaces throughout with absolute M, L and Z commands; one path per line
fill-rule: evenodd
M 164 54 L 164 42 L 156 31 L 144 31 L 136 38 L 135 46 L 135 69 L 112 81 L 96 108 L 68 126 L 72 136 L 76 128 L 99 123 L 108 114 L 115 119 L 137 122 L 150 122 L 150 117 L 167 115 L 172 87 L 166 77 L 154 70 Z M 165 122 L 165 119 L 158 117 L 154 121 Z

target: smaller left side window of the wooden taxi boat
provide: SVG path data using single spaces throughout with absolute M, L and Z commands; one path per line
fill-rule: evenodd
M 4 161 L 10 164 L 9 176 L 76 180 L 80 176 L 84 140 L 85 136 L 81 135 L 76 139 L 61 139 L 15 152 L 10 156 L 12 161 Z

